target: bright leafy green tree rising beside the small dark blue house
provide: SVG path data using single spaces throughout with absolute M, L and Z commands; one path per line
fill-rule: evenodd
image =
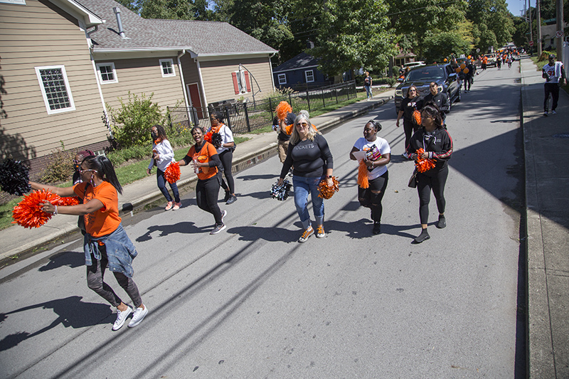
M 383 0 L 326 0 L 316 47 L 319 70 L 339 75 L 354 68 L 381 69 L 395 53 Z

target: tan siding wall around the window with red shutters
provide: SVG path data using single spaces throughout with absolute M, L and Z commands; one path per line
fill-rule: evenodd
M 259 90 L 257 83 L 252 78 L 250 78 L 251 92 L 247 92 L 243 95 L 235 95 L 235 90 L 233 90 L 231 73 L 239 69 L 239 63 L 242 63 L 250 70 L 259 84 L 262 92 L 256 95 L 256 99 L 260 99 L 265 96 L 265 94 L 272 92 L 270 64 L 267 57 L 240 60 L 213 60 L 200 63 L 203 85 L 206 87 L 208 102 L 238 99 L 242 96 L 252 100 L 252 94 Z

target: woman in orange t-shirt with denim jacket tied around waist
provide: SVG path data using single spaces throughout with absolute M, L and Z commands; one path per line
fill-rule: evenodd
M 59 188 L 32 181 L 30 185 L 35 190 L 51 191 L 58 196 L 85 196 L 83 204 L 78 205 L 53 205 L 46 201 L 43 211 L 53 215 L 84 216 L 87 286 L 117 308 L 117 319 L 112 330 L 120 329 L 132 313 L 132 308 L 124 304 L 104 282 L 105 269 L 108 267 L 134 304 L 134 315 L 128 324 L 132 328 L 140 324 L 148 314 L 148 308 L 142 303 L 137 284 L 132 279 L 132 260 L 137 256 L 137 250 L 124 232 L 119 217 L 117 193 L 122 193 L 122 186 L 106 156 L 87 156 L 80 164 L 79 173 L 83 183 L 73 187 Z

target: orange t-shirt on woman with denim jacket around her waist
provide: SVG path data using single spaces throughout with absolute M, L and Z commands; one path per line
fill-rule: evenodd
M 103 181 L 98 186 L 90 185 L 85 191 L 87 182 L 79 183 L 73 187 L 73 191 L 77 195 L 85 198 L 83 203 L 88 203 L 92 199 L 97 199 L 102 203 L 102 208 L 95 210 L 93 213 L 87 213 L 83 216 L 85 219 L 85 230 L 92 237 L 102 237 L 108 235 L 119 227 L 121 218 L 119 217 L 119 196 L 117 190 L 108 181 Z

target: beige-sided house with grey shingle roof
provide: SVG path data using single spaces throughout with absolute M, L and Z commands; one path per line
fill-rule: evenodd
M 0 0 L 2 156 L 36 171 L 62 142 L 103 151 L 106 104 L 128 92 L 163 110 L 271 92 L 276 52 L 228 23 L 144 19 L 112 0 Z

